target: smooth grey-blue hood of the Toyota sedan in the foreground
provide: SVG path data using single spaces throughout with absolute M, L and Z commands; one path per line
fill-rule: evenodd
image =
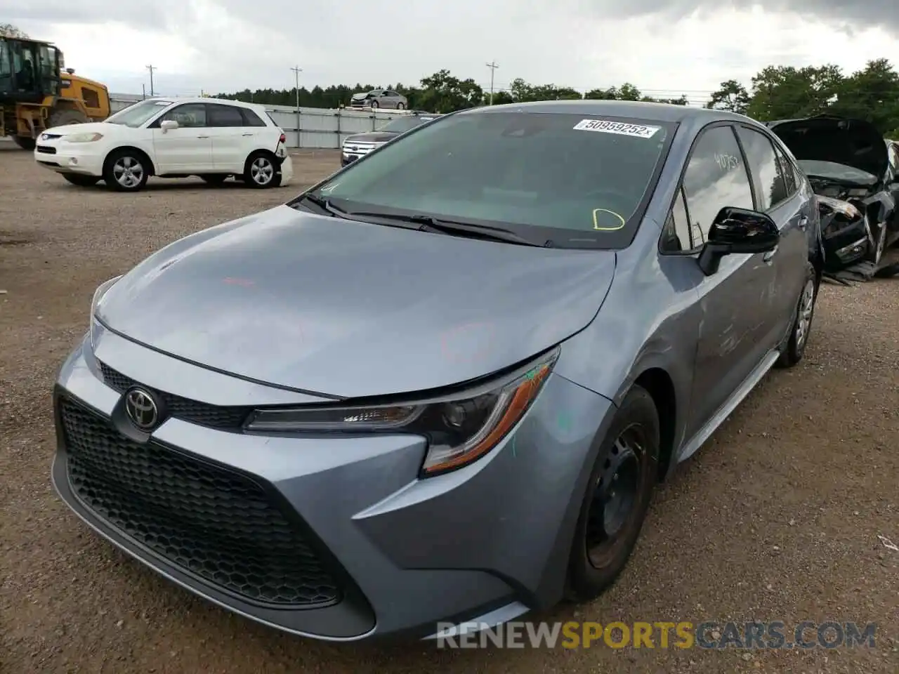
M 279 206 L 166 246 L 116 282 L 96 315 L 241 377 L 388 395 L 483 377 L 582 330 L 615 261 Z

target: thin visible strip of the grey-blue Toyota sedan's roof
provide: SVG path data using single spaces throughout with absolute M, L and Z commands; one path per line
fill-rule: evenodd
M 527 103 L 505 103 L 486 105 L 463 111 L 464 114 L 485 114 L 490 112 L 557 112 L 570 115 L 609 115 L 610 117 L 631 117 L 642 120 L 680 123 L 688 120 L 709 122 L 714 120 L 747 121 L 751 118 L 724 110 L 708 110 L 690 105 L 655 103 L 644 101 L 537 101 Z M 752 120 L 754 121 L 754 120 Z M 757 122 L 756 122 L 757 123 Z

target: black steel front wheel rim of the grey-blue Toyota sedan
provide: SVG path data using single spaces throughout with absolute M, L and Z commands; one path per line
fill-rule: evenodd
M 644 487 L 645 443 L 638 426 L 615 440 L 593 483 L 585 545 L 593 568 L 602 569 L 619 552 L 633 528 Z

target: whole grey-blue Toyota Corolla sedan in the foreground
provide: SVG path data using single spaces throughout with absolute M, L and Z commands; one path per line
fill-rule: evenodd
M 657 481 L 802 358 L 820 250 L 795 158 L 741 115 L 447 115 L 103 283 L 53 482 L 156 572 L 294 634 L 589 600 Z

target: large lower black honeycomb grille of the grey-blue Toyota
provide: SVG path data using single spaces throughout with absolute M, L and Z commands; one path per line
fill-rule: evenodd
M 66 398 L 69 482 L 85 505 L 169 563 L 245 598 L 323 607 L 327 563 L 253 481 L 153 442 L 138 444 Z

